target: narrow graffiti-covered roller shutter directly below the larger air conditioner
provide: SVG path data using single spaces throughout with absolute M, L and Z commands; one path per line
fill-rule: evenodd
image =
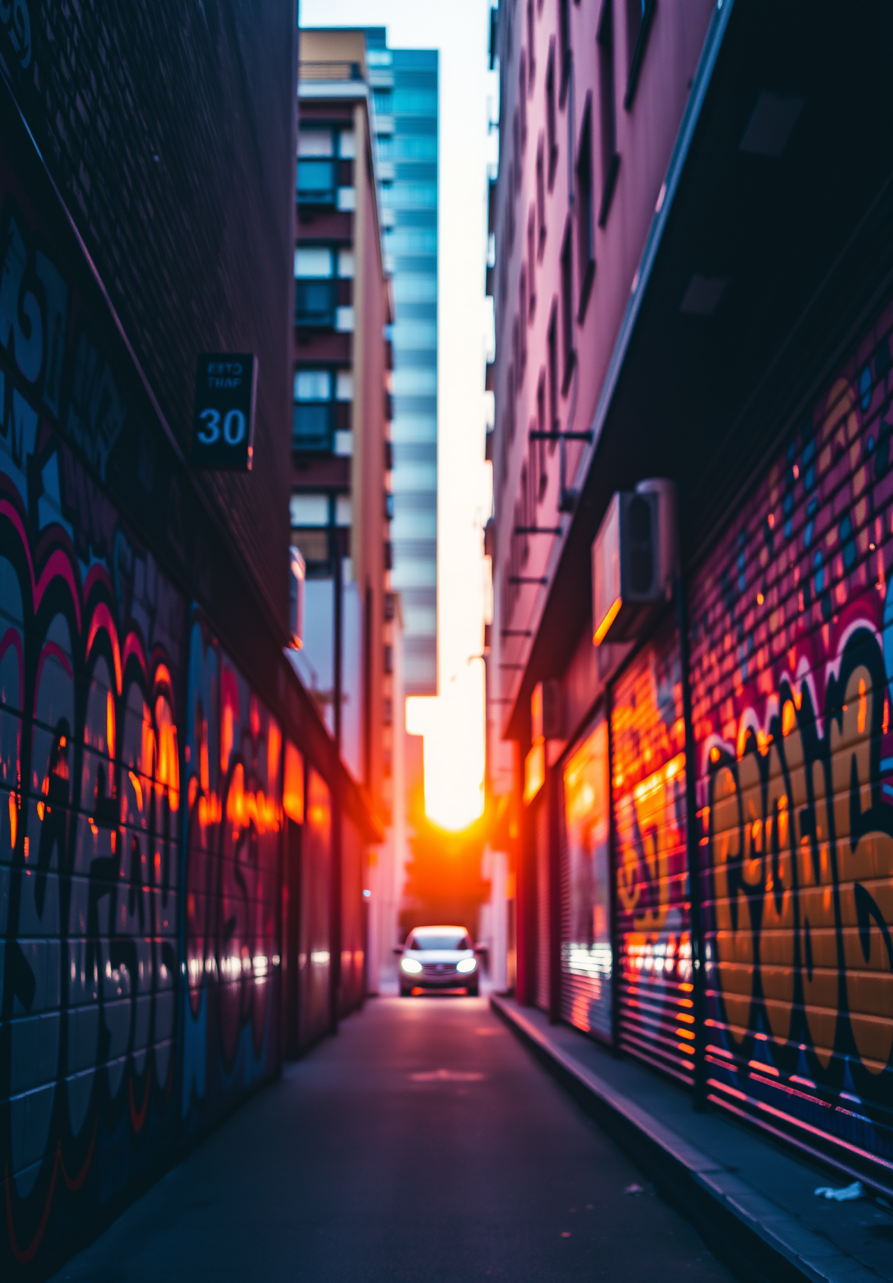
M 692 1082 L 685 722 L 672 621 L 617 681 L 611 749 L 620 1044 Z

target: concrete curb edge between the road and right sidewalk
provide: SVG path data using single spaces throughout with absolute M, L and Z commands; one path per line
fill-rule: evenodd
M 579 1105 L 634 1159 L 711 1251 L 748 1280 L 878 1283 L 880 1275 L 807 1229 L 716 1159 L 689 1144 L 629 1096 L 567 1056 L 495 994 L 491 1010 Z

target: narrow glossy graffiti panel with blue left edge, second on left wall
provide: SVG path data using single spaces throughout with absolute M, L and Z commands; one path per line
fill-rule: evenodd
M 278 1066 L 282 734 L 200 612 L 185 724 L 187 1133 Z

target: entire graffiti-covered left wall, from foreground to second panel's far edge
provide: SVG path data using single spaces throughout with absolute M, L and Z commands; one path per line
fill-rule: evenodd
M 278 726 L 109 498 L 154 427 L 5 146 L 3 1277 L 276 1070 L 281 806 Z

